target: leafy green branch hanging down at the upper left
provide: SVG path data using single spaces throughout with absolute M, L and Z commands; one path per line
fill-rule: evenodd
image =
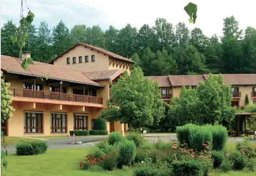
M 21 58 L 21 52 L 24 46 L 26 45 L 26 41 L 29 38 L 29 26 L 31 25 L 34 19 L 34 14 L 29 11 L 29 14 L 26 17 L 22 17 L 19 21 L 19 27 L 16 29 L 16 33 L 11 36 L 12 43 L 16 43 L 19 47 L 19 58 Z M 28 69 L 29 64 L 34 64 L 31 58 L 24 58 L 21 63 L 22 68 L 26 71 Z

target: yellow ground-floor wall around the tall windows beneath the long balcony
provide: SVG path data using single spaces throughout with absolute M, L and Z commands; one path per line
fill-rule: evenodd
M 74 113 L 87 114 L 87 128 L 92 129 L 92 119 L 98 117 L 101 110 L 99 108 L 75 107 L 72 105 L 51 105 L 46 103 L 21 103 L 14 101 L 11 105 L 15 111 L 9 119 L 8 135 L 9 136 L 28 136 L 28 135 L 68 135 L 70 130 L 74 130 Z M 40 134 L 24 134 L 24 110 L 42 111 L 43 114 L 43 133 Z M 50 114 L 51 113 L 67 113 L 67 133 L 51 133 Z

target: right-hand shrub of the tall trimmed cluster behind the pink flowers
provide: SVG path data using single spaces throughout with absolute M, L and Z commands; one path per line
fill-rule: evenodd
M 212 150 L 223 150 L 227 145 L 227 128 L 222 125 L 206 125 L 212 132 Z

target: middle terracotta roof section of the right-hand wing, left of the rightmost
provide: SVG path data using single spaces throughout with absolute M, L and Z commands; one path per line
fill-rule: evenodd
M 172 75 L 168 77 L 173 87 L 197 86 L 200 81 L 205 81 L 202 75 Z

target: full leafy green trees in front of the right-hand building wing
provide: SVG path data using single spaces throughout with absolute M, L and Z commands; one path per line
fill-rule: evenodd
M 210 74 L 196 89 L 183 87 L 180 98 L 172 98 L 168 115 L 177 125 L 232 123 L 235 107 L 231 100 L 230 85 L 223 83 L 221 75 Z

